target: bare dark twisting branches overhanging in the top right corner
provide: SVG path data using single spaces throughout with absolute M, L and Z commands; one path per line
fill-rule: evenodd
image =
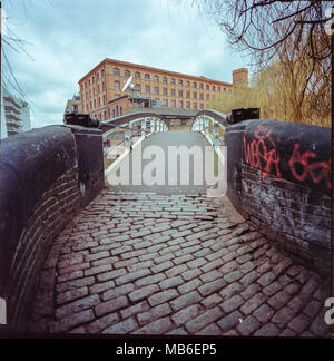
M 184 1 L 184 0 L 178 0 Z M 334 1 L 193 0 L 200 13 L 217 23 L 229 42 L 264 67 L 294 45 L 312 61 L 306 85 L 317 67 L 331 72 L 331 37 L 325 32 L 326 10 Z

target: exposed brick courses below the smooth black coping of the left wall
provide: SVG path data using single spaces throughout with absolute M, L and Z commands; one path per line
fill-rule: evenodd
M 26 312 L 52 241 L 72 218 L 79 204 L 78 167 L 75 167 L 43 193 L 19 241 L 11 264 L 9 289 L 9 297 L 16 300 L 12 304 L 13 323 L 21 320 Z

